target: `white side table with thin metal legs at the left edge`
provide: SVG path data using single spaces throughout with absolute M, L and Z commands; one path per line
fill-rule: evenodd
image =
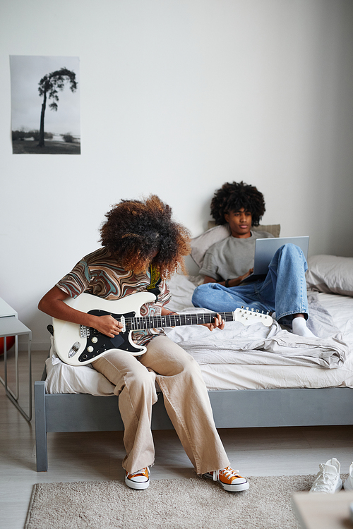
M 29 411 L 28 415 L 25 413 L 23 408 L 18 403 L 20 396 L 19 379 L 18 379 L 18 336 L 23 334 L 28 335 L 28 399 L 29 399 Z M 16 393 L 13 393 L 8 387 L 7 382 L 7 349 L 6 349 L 6 337 L 15 336 L 15 365 L 16 365 Z M 32 343 L 32 331 L 28 329 L 20 320 L 18 320 L 16 310 L 0 298 L 0 338 L 4 338 L 4 376 L 3 380 L 0 377 L 0 382 L 4 384 L 6 396 L 11 402 L 18 408 L 18 411 L 22 413 L 23 417 L 30 421 L 32 419 L 32 362 L 30 347 Z

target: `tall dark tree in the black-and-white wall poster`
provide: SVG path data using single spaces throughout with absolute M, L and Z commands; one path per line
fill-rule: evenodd
M 40 114 L 40 142 L 39 147 L 44 147 L 44 114 L 47 107 L 47 98 L 52 99 L 49 109 L 57 110 L 59 102 L 58 92 L 64 90 L 65 83 L 69 83 L 71 92 L 77 88 L 76 73 L 67 68 L 60 68 L 52 73 L 44 75 L 39 82 L 38 92 L 43 96 L 42 112 Z

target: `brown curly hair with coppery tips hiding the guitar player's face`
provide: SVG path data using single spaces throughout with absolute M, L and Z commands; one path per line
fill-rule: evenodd
M 190 233 L 172 220 L 172 208 L 157 195 L 144 200 L 121 200 L 107 212 L 100 242 L 125 270 L 145 272 L 150 263 L 169 277 L 190 253 Z

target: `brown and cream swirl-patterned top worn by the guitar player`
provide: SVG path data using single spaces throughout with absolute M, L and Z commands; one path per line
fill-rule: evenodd
M 142 274 L 126 272 L 119 267 L 116 258 L 107 248 L 95 250 L 83 259 L 66 274 L 57 284 L 71 298 L 77 298 L 81 293 L 87 292 L 108 300 L 124 298 L 136 292 L 145 292 L 150 285 L 150 271 Z M 142 305 L 141 316 L 160 315 L 161 309 L 170 298 L 169 288 L 162 279 L 158 285 L 160 294 L 155 303 Z M 145 346 L 158 334 L 164 334 L 163 329 L 146 329 L 133 331 L 133 340 L 138 345 Z

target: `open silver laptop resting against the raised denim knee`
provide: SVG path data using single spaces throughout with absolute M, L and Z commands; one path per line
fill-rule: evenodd
M 268 273 L 268 265 L 277 252 L 278 248 L 284 244 L 292 243 L 304 253 L 304 257 L 308 258 L 309 250 L 309 235 L 303 237 L 273 237 L 266 239 L 256 239 L 255 241 L 255 256 L 253 261 L 253 273 L 246 277 L 241 284 L 248 281 L 255 281 L 258 276 L 263 276 Z

